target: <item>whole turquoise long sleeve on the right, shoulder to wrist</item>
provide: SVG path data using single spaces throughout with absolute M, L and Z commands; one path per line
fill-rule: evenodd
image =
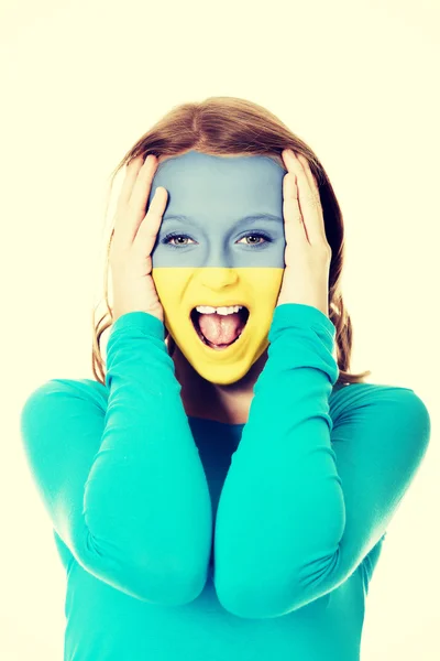
M 274 311 L 266 365 L 223 484 L 213 581 L 239 617 L 279 617 L 342 584 L 384 535 L 425 455 L 413 390 L 341 388 L 336 328 L 318 308 Z

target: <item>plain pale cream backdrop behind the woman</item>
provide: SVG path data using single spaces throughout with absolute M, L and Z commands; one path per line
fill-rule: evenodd
M 344 216 L 353 370 L 430 411 L 362 661 L 440 658 L 439 23 L 437 0 L 3 0 L 0 658 L 63 657 L 65 576 L 21 407 L 51 378 L 92 378 L 110 173 L 162 115 L 208 96 L 265 106 L 315 150 Z

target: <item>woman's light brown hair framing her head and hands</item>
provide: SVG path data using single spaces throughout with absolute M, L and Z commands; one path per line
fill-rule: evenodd
M 123 156 L 111 176 L 110 192 L 118 172 L 139 155 L 165 158 L 182 155 L 188 151 L 200 151 L 210 155 L 264 155 L 274 159 L 285 169 L 280 156 L 284 149 L 302 154 L 318 182 L 326 225 L 327 240 L 332 250 L 329 272 L 329 318 L 336 327 L 336 358 L 339 367 L 337 384 L 362 382 L 370 370 L 353 375 L 350 359 L 353 327 L 344 307 L 341 292 L 341 274 L 344 261 L 344 226 L 342 213 L 329 177 L 312 150 L 295 136 L 275 115 L 264 107 L 234 97 L 210 97 L 201 102 L 183 104 L 160 119 Z M 113 323 L 108 299 L 109 251 L 113 237 L 111 231 L 107 245 L 105 266 L 103 300 L 92 311 L 91 368 L 95 378 L 106 383 L 105 361 L 101 356 L 100 338 Z M 96 321 L 97 310 L 105 301 L 106 312 Z M 173 356 L 175 343 L 165 328 L 168 353 Z

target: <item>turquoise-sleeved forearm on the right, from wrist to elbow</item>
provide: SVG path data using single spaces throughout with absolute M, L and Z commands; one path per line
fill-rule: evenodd
M 283 608 L 284 587 L 287 600 L 295 585 L 307 598 L 322 572 L 316 561 L 334 552 L 344 529 L 330 445 L 338 366 L 322 321 L 308 306 L 276 308 L 268 359 L 217 511 L 216 587 L 250 617 Z

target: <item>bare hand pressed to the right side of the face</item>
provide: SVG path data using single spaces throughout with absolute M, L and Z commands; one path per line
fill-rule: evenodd
M 312 305 L 329 316 L 331 248 L 326 238 L 318 184 L 302 155 L 297 158 L 285 149 L 282 156 L 288 171 L 283 180 L 286 268 L 277 305 Z

